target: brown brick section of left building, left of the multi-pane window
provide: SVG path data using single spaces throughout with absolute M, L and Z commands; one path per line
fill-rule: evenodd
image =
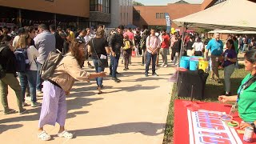
M 0 0 L 2 23 L 37 26 L 40 23 L 58 26 L 86 25 L 90 18 L 90 0 Z

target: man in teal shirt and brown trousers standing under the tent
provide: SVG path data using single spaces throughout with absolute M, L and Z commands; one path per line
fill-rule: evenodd
M 208 52 L 210 50 L 210 58 L 208 58 Z M 219 79 L 218 74 L 218 64 L 219 64 L 219 58 L 221 57 L 223 53 L 223 42 L 219 39 L 219 34 L 214 33 L 214 38 L 208 42 L 206 46 L 206 59 L 211 59 L 211 68 L 210 71 L 210 80 L 216 80 L 218 83 L 221 83 Z M 217 79 L 214 78 L 214 75 L 217 77 Z

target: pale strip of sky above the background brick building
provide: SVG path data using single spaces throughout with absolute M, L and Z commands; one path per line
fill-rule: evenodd
M 136 2 L 141 2 L 145 6 L 166 6 L 167 3 L 178 2 L 179 0 L 134 0 Z M 190 3 L 202 3 L 203 0 L 184 0 Z

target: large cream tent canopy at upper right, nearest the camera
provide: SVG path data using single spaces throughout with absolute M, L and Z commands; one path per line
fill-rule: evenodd
M 178 26 L 222 30 L 256 30 L 256 3 L 226 0 L 195 14 L 174 19 Z

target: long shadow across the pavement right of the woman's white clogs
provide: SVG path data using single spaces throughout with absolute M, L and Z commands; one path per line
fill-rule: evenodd
M 165 125 L 165 123 L 130 122 L 92 129 L 71 130 L 70 132 L 76 137 L 123 133 L 141 133 L 144 135 L 154 136 L 164 133 Z

